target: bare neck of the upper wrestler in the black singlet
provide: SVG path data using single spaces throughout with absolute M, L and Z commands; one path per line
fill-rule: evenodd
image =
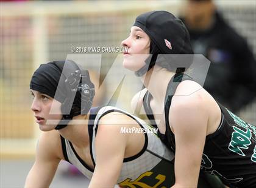
M 165 101 L 166 88 L 174 74 L 174 72 L 155 65 L 148 73 L 141 77 L 141 81 L 151 93 L 154 100 L 162 104 Z

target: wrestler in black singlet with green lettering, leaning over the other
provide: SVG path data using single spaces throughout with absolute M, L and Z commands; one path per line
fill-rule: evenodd
M 175 152 L 172 187 L 196 187 L 200 169 L 229 186 L 256 187 L 256 127 L 215 101 L 184 74 L 183 65 L 172 66 L 180 54 L 193 56 L 182 21 L 165 11 L 143 13 L 122 44 L 124 67 L 141 76 L 146 87 L 135 95 L 132 106 L 143 106 L 157 124 L 160 139 Z M 152 57 L 137 61 L 139 54 Z M 159 54 L 174 56 L 158 61 Z

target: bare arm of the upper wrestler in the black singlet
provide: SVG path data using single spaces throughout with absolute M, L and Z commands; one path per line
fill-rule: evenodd
M 208 114 L 201 92 L 172 98 L 169 122 L 175 135 L 174 187 L 197 187 Z

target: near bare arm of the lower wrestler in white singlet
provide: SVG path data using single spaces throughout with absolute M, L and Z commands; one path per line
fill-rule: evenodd
M 99 121 L 95 140 L 96 166 L 89 187 L 114 187 L 117 183 L 128 138 L 128 134 L 121 133 L 126 118 L 113 113 Z

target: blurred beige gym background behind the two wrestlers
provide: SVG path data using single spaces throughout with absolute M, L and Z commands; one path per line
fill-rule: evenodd
M 0 187 L 23 187 L 34 161 L 40 132 L 30 110 L 29 81 L 39 64 L 66 59 L 72 46 L 120 47 L 137 15 L 149 10 L 168 10 L 178 16 L 185 3 L 185 0 L 2 1 Z M 256 57 L 255 1 L 223 0 L 215 4 L 226 21 L 247 39 Z M 102 55 L 102 75 L 107 73 L 118 54 Z M 91 69 L 94 69 L 93 64 Z M 108 93 L 107 89 L 105 92 Z M 256 101 L 238 115 L 256 124 Z M 79 173 L 68 170 L 66 173 L 62 164 L 51 187 L 88 186 L 89 181 L 84 176 L 79 178 Z

